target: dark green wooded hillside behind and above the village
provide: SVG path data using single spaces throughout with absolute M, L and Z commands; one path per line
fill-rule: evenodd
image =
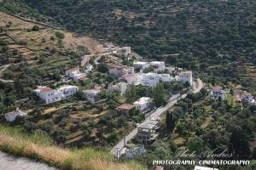
M 244 75 L 226 77 L 229 71 L 212 66 L 255 63 L 253 0 L 24 2 L 68 30 L 131 45 L 145 57 L 207 71 L 221 82 L 236 83 Z

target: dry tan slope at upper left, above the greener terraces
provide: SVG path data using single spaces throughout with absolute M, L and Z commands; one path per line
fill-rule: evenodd
M 33 21 L 26 21 L 3 12 L 0 13 L 1 64 L 19 63 L 37 64 L 40 57 L 67 59 L 70 51 L 79 54 L 102 52 L 102 46 L 90 37 L 82 37 L 71 32 L 60 31 Z M 61 32 L 63 38 L 56 37 Z M 84 46 L 84 51 L 79 47 Z M 41 65 L 42 66 L 42 65 Z

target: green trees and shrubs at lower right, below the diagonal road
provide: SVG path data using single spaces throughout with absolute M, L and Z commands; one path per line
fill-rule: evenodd
M 254 160 L 250 166 L 215 166 L 220 170 L 255 169 L 255 106 L 241 106 L 230 100 L 223 102 L 207 97 L 207 91 L 189 94 L 181 99 L 175 108 L 166 114 L 166 121 L 161 123 L 160 138 L 149 146 L 148 153 L 137 156 L 137 160 L 148 165 L 151 160 L 168 160 L 180 150 L 195 151 L 192 160 L 231 159 Z M 229 157 L 208 157 L 207 152 L 225 153 Z M 173 157 L 175 159 L 175 157 Z M 188 159 L 187 157 L 180 159 Z M 166 166 L 165 169 L 192 169 L 193 166 Z

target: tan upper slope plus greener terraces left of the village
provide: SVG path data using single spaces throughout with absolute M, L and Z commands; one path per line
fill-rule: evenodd
M 60 81 L 84 54 L 102 50 L 90 37 L 0 12 L 0 114 L 16 104 L 28 106 L 33 88 Z

